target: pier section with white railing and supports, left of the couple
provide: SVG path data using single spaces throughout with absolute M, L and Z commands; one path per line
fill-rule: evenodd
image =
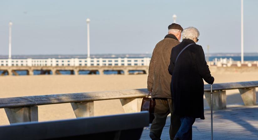
M 147 74 L 150 58 L 71 58 L 71 59 L 0 59 L 1 75 L 18 75 L 17 71 L 26 71 L 33 75 L 34 71 L 41 74 L 61 74 L 69 71 L 78 75 L 80 71 L 89 74 L 104 74 L 104 71 L 116 71 L 117 74 L 128 75 L 130 71 Z

